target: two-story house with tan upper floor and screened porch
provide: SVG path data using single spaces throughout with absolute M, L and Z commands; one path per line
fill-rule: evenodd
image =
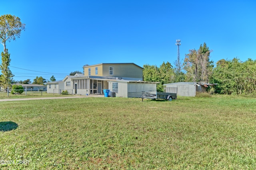
M 92 95 L 103 94 L 103 89 L 117 97 L 141 97 L 142 91 L 156 92 L 157 82 L 143 81 L 143 68 L 134 63 L 101 63 L 84 66 L 84 74 L 66 76 L 62 81 L 48 82 L 48 93 Z M 58 88 L 58 87 L 62 87 Z

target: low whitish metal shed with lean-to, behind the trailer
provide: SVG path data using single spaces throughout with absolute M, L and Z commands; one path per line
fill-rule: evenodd
M 176 87 L 178 88 L 177 96 L 196 96 L 196 92 L 206 92 L 208 86 L 213 86 L 214 84 L 209 83 L 196 83 L 196 82 L 177 82 L 164 84 L 165 88 Z

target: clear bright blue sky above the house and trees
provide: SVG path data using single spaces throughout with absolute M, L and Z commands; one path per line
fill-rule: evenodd
M 174 65 L 176 39 L 180 59 L 204 42 L 214 63 L 256 59 L 255 0 L 1 0 L 0 9 L 26 24 L 7 43 L 14 80 L 62 80 L 84 64 Z

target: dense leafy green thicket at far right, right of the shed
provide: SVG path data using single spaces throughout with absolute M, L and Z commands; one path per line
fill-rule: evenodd
M 238 58 L 219 60 L 212 71 L 211 82 L 218 83 L 220 94 L 256 94 L 256 60 Z

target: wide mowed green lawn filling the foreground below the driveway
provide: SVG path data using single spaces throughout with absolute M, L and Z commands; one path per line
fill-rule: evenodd
M 256 169 L 255 98 L 141 101 L 0 102 L 0 169 Z

